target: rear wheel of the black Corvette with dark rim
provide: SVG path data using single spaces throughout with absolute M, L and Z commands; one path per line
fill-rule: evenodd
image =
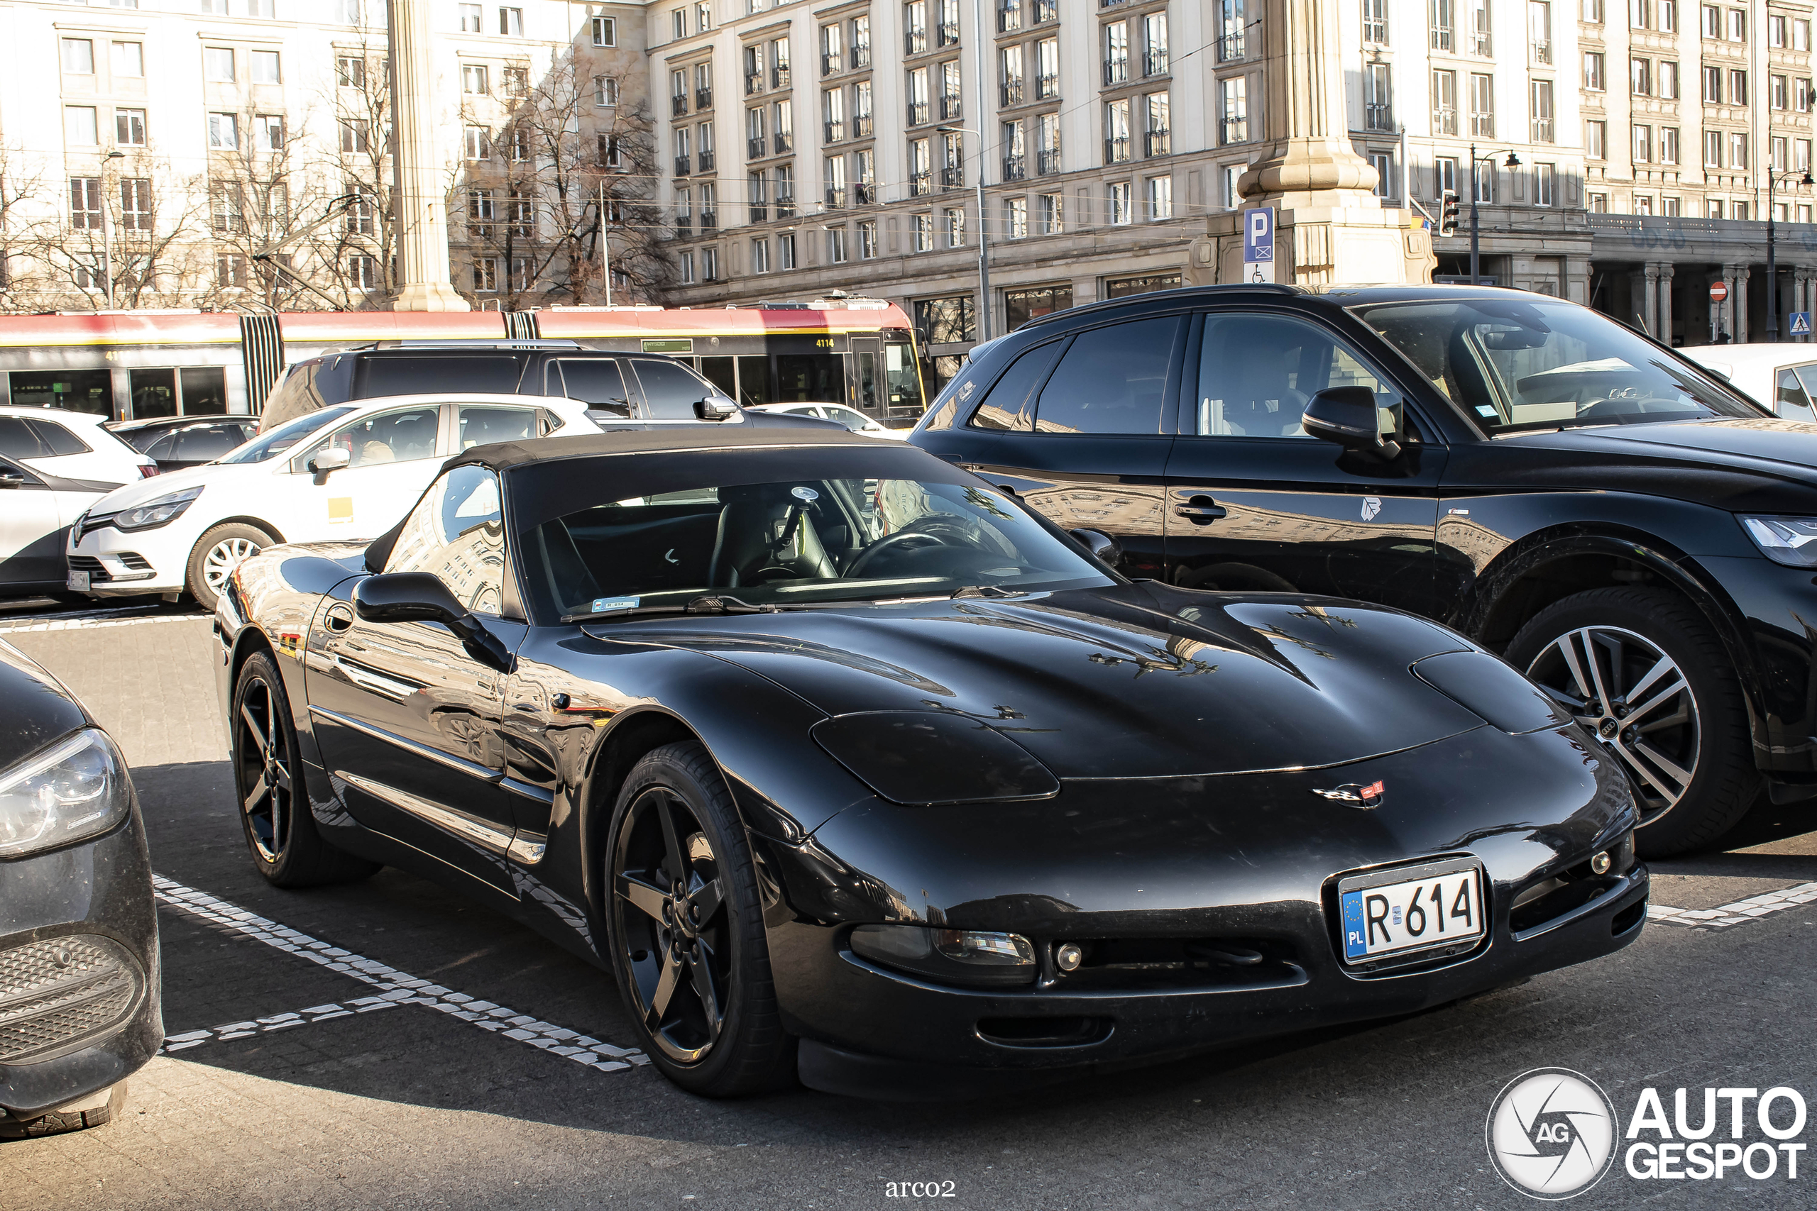
M 240 666 L 233 695 L 234 799 L 253 866 L 276 888 L 352 882 L 380 864 L 336 850 L 316 832 L 283 679 L 269 652 Z

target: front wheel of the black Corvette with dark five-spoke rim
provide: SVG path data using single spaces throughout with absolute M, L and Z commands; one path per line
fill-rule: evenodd
M 638 761 L 609 835 L 612 973 L 650 1062 L 703 1097 L 790 1080 L 750 848 L 707 750 Z

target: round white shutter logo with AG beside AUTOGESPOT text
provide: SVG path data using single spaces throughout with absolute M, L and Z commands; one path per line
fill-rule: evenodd
M 1535 1068 L 1495 1097 L 1484 1135 L 1508 1186 L 1534 1198 L 1572 1198 L 1615 1160 L 1615 1104 L 1583 1073 Z

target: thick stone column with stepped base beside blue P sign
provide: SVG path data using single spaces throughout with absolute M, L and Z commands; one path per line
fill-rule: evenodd
M 1245 205 L 1276 207 L 1276 281 L 1432 281 L 1432 236 L 1370 192 L 1375 169 L 1350 145 L 1348 60 L 1337 0 L 1263 0 L 1263 134 L 1237 182 Z M 1237 216 L 1214 216 L 1219 281 L 1241 280 Z

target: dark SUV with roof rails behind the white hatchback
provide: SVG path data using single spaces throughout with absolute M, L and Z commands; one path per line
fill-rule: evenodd
M 485 392 L 563 396 L 601 428 L 665 421 L 741 421 L 829 428 L 830 421 L 747 412 L 690 367 L 661 354 L 614 354 L 576 341 L 382 341 L 291 365 L 273 387 L 260 432 L 349 399 Z

